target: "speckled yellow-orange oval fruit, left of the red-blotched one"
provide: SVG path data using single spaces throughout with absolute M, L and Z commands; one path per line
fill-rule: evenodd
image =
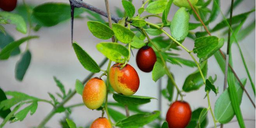
M 98 109 L 105 100 L 106 91 L 106 85 L 102 79 L 92 78 L 84 86 L 82 100 L 89 109 Z

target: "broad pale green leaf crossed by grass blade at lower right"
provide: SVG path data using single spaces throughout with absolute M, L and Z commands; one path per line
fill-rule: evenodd
M 246 84 L 246 79 L 241 80 L 242 84 L 245 86 Z M 236 92 L 238 95 L 237 102 L 241 104 L 242 102 L 242 96 L 243 96 L 243 89 L 241 88 L 240 84 L 238 81 L 235 83 L 236 87 Z M 217 121 L 220 123 L 228 123 L 231 121 L 231 119 L 235 116 L 235 112 L 233 110 L 231 100 L 230 100 L 230 95 L 229 95 L 229 90 L 226 89 L 216 100 L 215 106 L 214 106 L 214 116 Z

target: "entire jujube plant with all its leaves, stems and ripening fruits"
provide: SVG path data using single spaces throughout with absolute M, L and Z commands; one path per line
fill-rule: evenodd
M 135 9 L 132 0 L 122 0 L 118 2 L 122 3 L 124 11 L 117 9 L 118 16 L 110 12 L 108 0 L 105 0 L 107 11 L 98 9 L 82 0 L 69 0 L 70 4 L 43 3 L 37 6 L 29 5 L 23 0 L 23 4 L 17 7 L 17 0 L 0 0 L 2 9 L 0 12 L 0 59 L 7 60 L 15 55 L 21 56 L 15 67 L 17 80 L 23 80 L 30 65 L 32 53 L 28 41 L 39 38 L 39 36 L 32 36 L 30 31 L 36 32 L 40 31 L 42 27 L 54 27 L 69 19 L 71 19 L 72 27 L 70 40 L 74 53 L 81 65 L 91 72 L 84 81 L 76 80 L 75 89 L 68 91 L 65 90 L 61 81 L 54 77 L 61 93 L 53 95 L 48 92 L 51 100 L 40 99 L 22 92 L 4 92 L 0 89 L 0 116 L 3 118 L 0 127 L 4 127 L 9 121 L 22 121 L 29 112 L 31 115 L 36 112 L 38 102 L 46 102 L 53 106 L 53 110 L 40 122 L 38 128 L 43 128 L 54 114 L 61 112 L 66 113 L 66 119 L 61 120 L 62 126 L 68 125 L 70 128 L 77 128 L 69 118 L 72 109 L 77 106 L 86 106 L 88 109 L 102 111 L 99 118 L 88 125 L 90 128 L 139 128 L 145 125 L 154 128 L 205 128 L 208 124 L 208 112 L 211 114 L 214 127 L 217 127 L 217 123 L 223 126 L 236 116 L 239 126 L 244 128 L 244 118 L 240 109 L 243 92 L 250 99 L 254 108 L 255 104 L 244 88 L 247 79 L 238 78 L 233 69 L 231 45 L 236 43 L 239 48 L 251 84 L 250 89 L 253 90 L 255 97 L 254 82 L 238 43 L 247 36 L 244 33 L 251 33 L 254 30 L 255 19 L 245 28 L 242 29 L 242 26 L 255 9 L 233 16 L 233 9 L 242 1 L 236 0 L 235 3 L 233 0 L 230 1 L 230 10 L 227 12 L 230 14 L 230 18 L 226 18 L 220 9 L 220 0 L 142 0 L 139 9 Z M 172 6 L 177 6 L 179 9 L 171 12 L 174 14 L 173 17 L 168 17 Z M 15 7 L 16 9 L 14 9 Z M 7 12 L 12 10 L 14 11 Z M 81 18 L 82 13 L 88 14 L 90 21 L 87 22 L 87 26 L 92 36 L 102 39 L 102 42 L 95 46 L 105 56 L 99 65 L 73 39 L 73 21 L 76 17 Z M 223 20 L 210 28 L 209 24 L 214 22 L 220 13 Z M 105 21 L 101 15 L 107 17 L 108 21 Z M 157 17 L 161 22 L 153 23 L 147 20 L 150 17 Z M 192 18 L 196 22 L 191 22 Z M 3 24 L 14 24 L 17 31 L 28 34 L 28 36 L 14 40 L 7 33 Z M 198 31 L 198 28 L 202 29 Z M 166 31 L 167 29 L 170 32 Z M 221 36 L 212 35 L 214 32 L 222 34 Z M 110 38 L 112 42 L 108 41 Z M 185 47 L 186 40 L 193 40 L 194 47 Z M 19 45 L 25 42 L 27 42 L 26 49 L 21 52 Z M 226 53 L 221 50 L 225 42 L 227 42 Z M 136 57 L 132 57 L 133 51 L 136 51 L 134 49 L 139 49 Z M 192 61 L 179 57 L 177 50 L 187 52 Z M 208 68 L 211 68 L 211 64 L 207 62 L 210 57 L 216 59 L 223 71 L 225 78 L 223 85 L 214 85 L 219 75 L 207 75 Z M 156 98 L 136 95 L 137 90 L 143 89 L 139 87 L 140 81 L 143 80 L 139 78 L 137 73 L 139 71 L 134 69 L 134 65 L 128 64 L 130 59 L 136 59 L 137 66 L 141 71 L 151 73 L 153 81 L 158 81 L 163 76 L 168 77 L 167 87 L 163 90 L 156 90 L 170 102 L 168 112 L 162 114 L 166 117 L 161 116 L 160 110 L 148 112 L 140 109 L 140 105 L 149 103 L 151 99 Z M 102 69 L 107 61 L 107 69 Z M 195 68 L 195 71 L 184 80 L 182 90 L 174 80 L 176 73 L 170 69 L 172 65 Z M 93 78 L 95 73 L 101 75 Z M 153 88 L 153 86 L 149 86 L 149 88 Z M 189 103 L 194 101 L 184 101 L 183 98 L 186 97 L 187 92 L 196 91 L 199 88 L 205 88 L 205 97 L 202 98 L 207 100 L 208 106 L 191 109 Z M 223 90 L 219 88 L 223 88 Z M 177 95 L 174 99 L 175 92 Z M 65 103 L 76 93 L 81 95 L 83 103 L 65 106 Z M 214 109 L 210 104 L 209 93 L 215 93 L 218 97 Z M 150 96 L 151 94 L 145 95 Z M 60 97 L 61 101 L 56 96 Z M 109 96 L 112 96 L 115 102 L 109 102 Z M 161 100 L 158 104 L 161 106 Z M 125 110 L 126 115 L 113 107 Z M 251 107 L 251 104 L 248 107 Z M 130 111 L 133 113 L 131 116 Z

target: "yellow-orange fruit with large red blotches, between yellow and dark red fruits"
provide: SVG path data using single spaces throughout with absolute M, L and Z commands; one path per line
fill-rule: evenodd
M 126 64 L 114 64 L 109 71 L 109 83 L 117 93 L 133 95 L 139 89 L 140 78 L 136 70 Z

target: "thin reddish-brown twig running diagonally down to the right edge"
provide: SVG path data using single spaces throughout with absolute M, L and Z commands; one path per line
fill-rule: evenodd
M 198 17 L 198 19 L 200 20 L 200 22 L 203 24 L 203 26 L 204 26 L 203 28 L 205 28 L 205 31 L 208 33 L 208 35 L 211 36 L 209 30 L 207 29 L 207 27 L 206 27 L 205 24 L 203 23 L 201 17 L 200 17 L 200 16 L 198 15 L 198 13 L 195 11 L 193 5 L 191 5 L 191 3 L 189 2 L 189 0 L 188 0 L 188 3 L 189 3 L 189 5 L 191 6 L 191 8 L 193 9 L 193 11 L 195 12 L 195 14 L 196 14 L 196 16 Z M 232 18 L 232 17 L 230 17 L 230 18 Z M 220 52 L 221 55 L 223 56 L 223 59 L 226 61 L 226 57 L 225 57 L 224 53 L 223 53 L 221 50 L 219 50 L 219 52 Z M 247 92 L 247 90 L 244 88 L 244 85 L 242 84 L 242 82 L 241 82 L 240 79 L 238 78 L 238 76 L 237 76 L 237 74 L 235 73 L 233 67 L 232 67 L 230 64 L 228 64 L 228 66 L 230 67 L 231 71 L 233 72 L 233 74 L 235 75 L 236 79 L 238 80 L 239 85 L 242 87 L 242 89 L 244 90 L 244 92 L 246 93 L 247 97 L 249 98 L 249 100 L 251 101 L 252 105 L 253 105 L 254 108 L 255 108 L 255 104 L 254 104 L 253 100 L 251 99 L 251 97 L 250 97 L 249 93 Z

